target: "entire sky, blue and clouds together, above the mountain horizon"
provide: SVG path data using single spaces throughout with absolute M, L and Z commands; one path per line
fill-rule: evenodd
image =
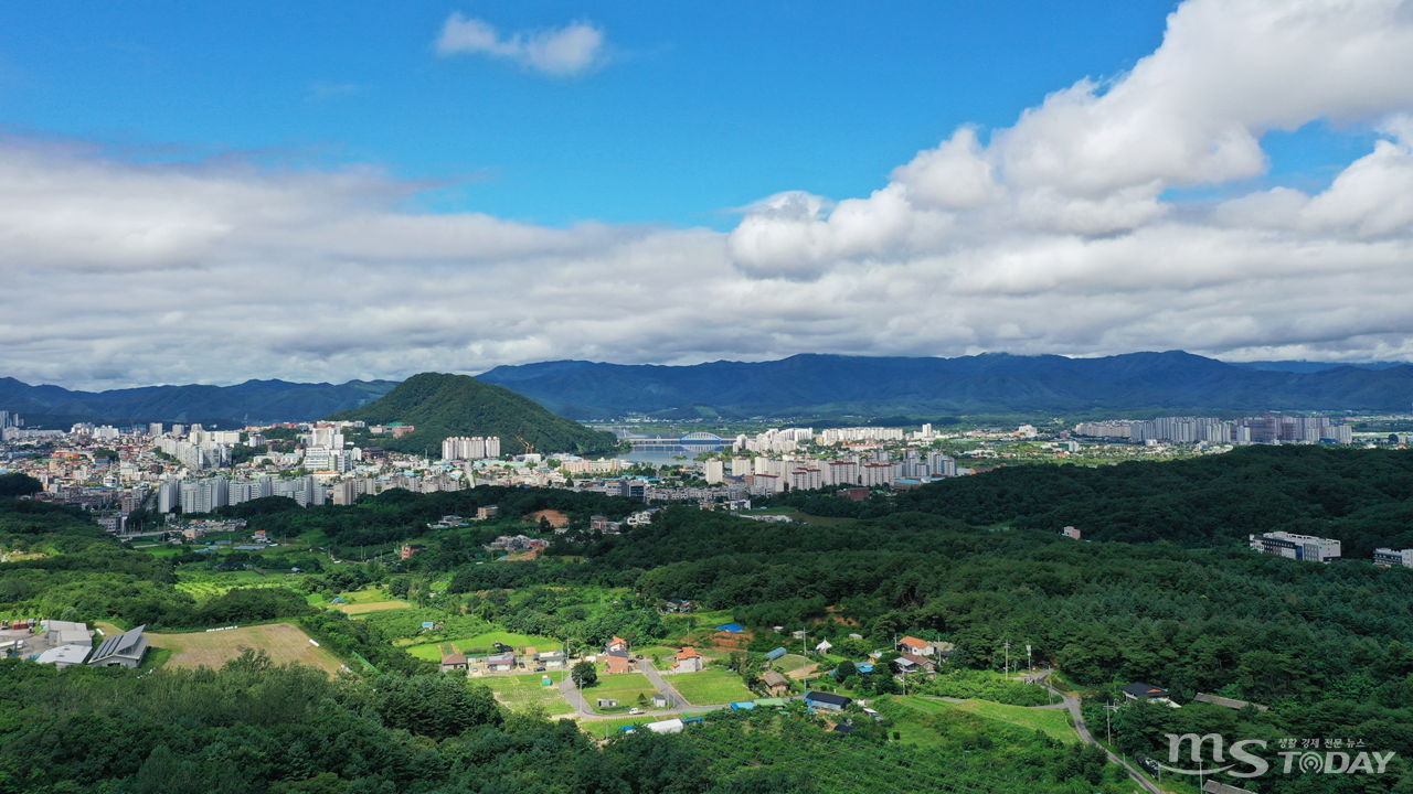
M 17 13 L 0 374 L 1413 359 L 1400 4 L 743 8 Z

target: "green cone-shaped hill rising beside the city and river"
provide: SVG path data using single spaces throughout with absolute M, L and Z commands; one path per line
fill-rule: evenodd
M 415 374 L 376 403 L 339 411 L 329 421 L 369 424 L 403 422 L 417 429 L 387 439 L 387 449 L 432 454 L 452 435 L 499 435 L 500 452 L 610 452 L 613 434 L 588 429 L 574 420 L 551 414 L 534 400 L 502 386 L 480 383 L 468 374 Z

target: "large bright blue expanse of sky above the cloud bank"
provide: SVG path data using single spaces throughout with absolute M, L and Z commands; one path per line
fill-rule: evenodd
M 136 158 L 376 164 L 447 184 L 422 196 L 435 209 L 725 229 L 723 211 L 779 191 L 866 195 L 958 124 L 1009 126 L 1057 88 L 1116 75 L 1160 44 L 1171 8 L 13 3 L 0 120 Z M 454 11 L 506 32 L 588 21 L 609 55 L 567 78 L 442 57 Z

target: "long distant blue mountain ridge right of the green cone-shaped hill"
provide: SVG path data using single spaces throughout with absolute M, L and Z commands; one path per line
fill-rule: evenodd
M 1098 359 L 798 355 L 695 366 L 544 362 L 478 376 L 575 418 L 712 405 L 723 414 L 1407 411 L 1413 366 L 1273 372 L 1181 350 Z

